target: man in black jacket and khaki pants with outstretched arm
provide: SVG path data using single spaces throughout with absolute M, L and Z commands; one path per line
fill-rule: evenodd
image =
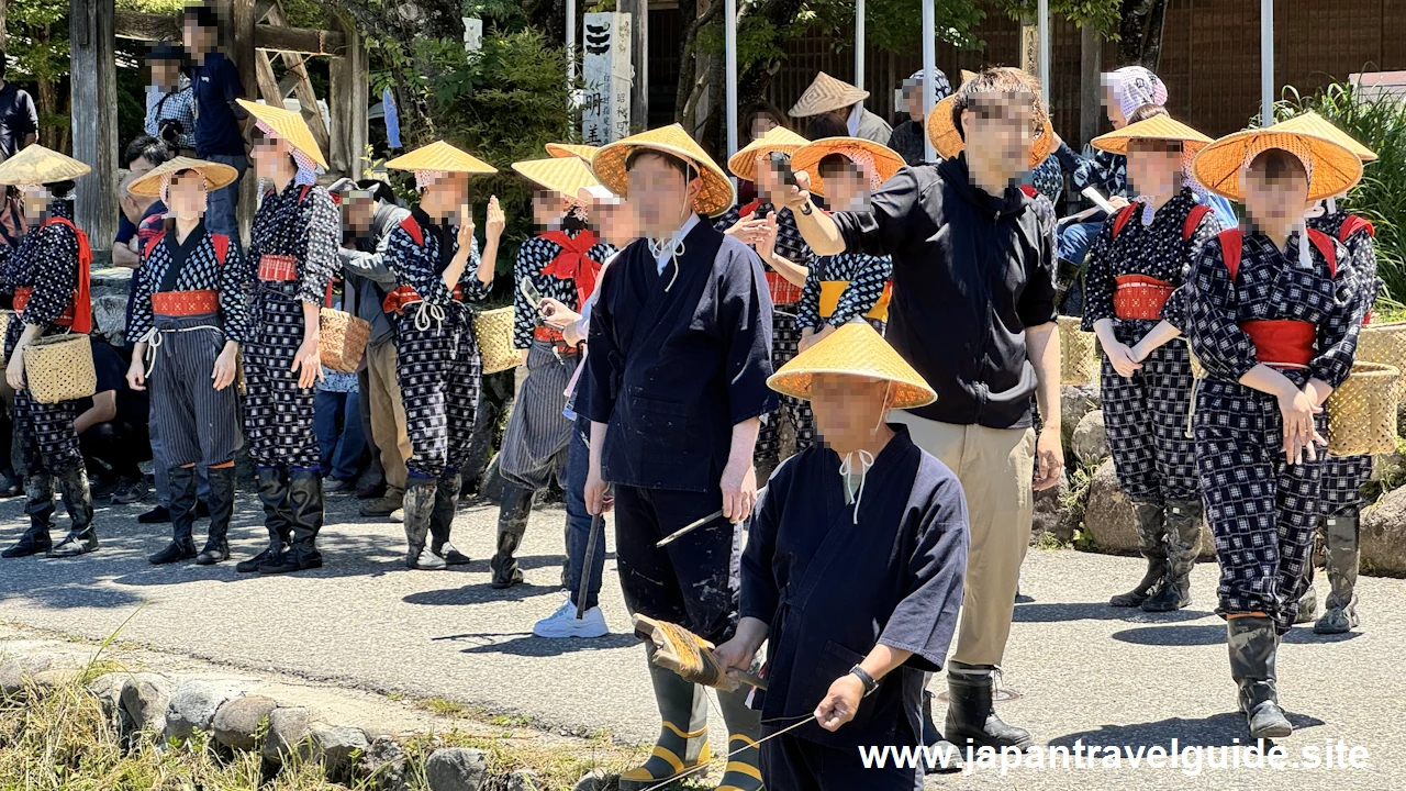
M 1064 459 L 1054 239 L 1019 190 L 1043 107 L 1022 72 L 991 69 L 962 86 L 952 113 L 966 152 L 900 170 L 872 211 L 815 211 L 804 175 L 787 205 L 817 255 L 893 256 L 887 339 L 938 400 L 890 419 L 957 474 L 970 512 L 945 735 L 963 749 L 1025 747 L 1029 732 L 995 716 L 991 691 L 1031 538 L 1031 481 L 1054 486 Z

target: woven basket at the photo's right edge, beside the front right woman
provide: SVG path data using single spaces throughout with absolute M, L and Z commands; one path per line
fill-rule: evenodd
M 1396 450 L 1396 383 L 1400 369 L 1354 363 L 1353 373 L 1327 397 L 1327 452 L 1365 456 Z

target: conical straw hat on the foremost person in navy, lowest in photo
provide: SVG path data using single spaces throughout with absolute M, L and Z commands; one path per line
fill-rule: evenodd
M 810 400 L 810 380 L 817 373 L 886 379 L 894 383 L 894 410 L 911 410 L 938 400 L 918 372 L 865 321 L 851 321 L 796 355 L 766 379 L 766 386 L 785 396 Z

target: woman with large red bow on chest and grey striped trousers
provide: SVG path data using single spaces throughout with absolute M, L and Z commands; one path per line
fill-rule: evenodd
M 508 429 L 503 432 L 499 470 L 508 486 L 498 512 L 498 543 L 488 566 L 492 586 L 506 588 L 523 581 L 513 553 L 527 532 L 527 517 L 537 490 L 553 476 L 565 487 L 571 421 L 567 384 L 579 363 L 579 343 L 568 343 L 561 331 L 541 321 L 540 298 L 553 298 L 572 310 L 595 291 L 600 263 L 614 248 L 586 227 L 585 204 L 576 191 L 598 184 L 591 166 L 576 156 L 513 163 L 513 170 L 533 183 L 533 222 L 541 231 L 517 249 L 513 266 L 513 348 L 527 365 Z

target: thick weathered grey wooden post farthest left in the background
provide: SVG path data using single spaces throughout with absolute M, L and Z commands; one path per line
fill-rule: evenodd
M 117 235 L 117 55 L 114 0 L 69 1 L 73 63 L 73 156 L 93 167 L 77 180 L 75 208 L 93 249 L 111 251 Z

